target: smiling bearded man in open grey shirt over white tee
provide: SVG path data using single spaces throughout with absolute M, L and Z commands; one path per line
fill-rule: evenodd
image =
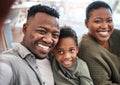
M 58 42 L 58 18 L 48 6 L 28 10 L 23 41 L 0 55 L 0 85 L 54 85 L 47 54 Z

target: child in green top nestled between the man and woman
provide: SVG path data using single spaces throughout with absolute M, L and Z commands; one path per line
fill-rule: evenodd
M 71 27 L 61 27 L 59 41 L 52 50 L 56 85 L 93 85 L 86 63 L 77 57 L 77 35 Z

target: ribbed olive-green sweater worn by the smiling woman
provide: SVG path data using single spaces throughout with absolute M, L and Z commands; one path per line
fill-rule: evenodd
M 114 30 L 109 44 L 107 50 L 89 35 L 79 44 L 78 56 L 87 63 L 95 85 L 120 85 L 120 30 Z

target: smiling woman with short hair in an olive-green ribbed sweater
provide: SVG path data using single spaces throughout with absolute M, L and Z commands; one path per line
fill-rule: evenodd
M 95 85 L 120 85 L 120 31 L 114 29 L 111 7 L 102 1 L 86 9 L 88 34 L 78 56 L 88 64 Z

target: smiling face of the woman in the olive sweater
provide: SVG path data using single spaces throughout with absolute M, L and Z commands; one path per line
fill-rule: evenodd
M 90 12 L 89 19 L 86 20 L 89 34 L 99 43 L 108 41 L 113 32 L 112 13 L 107 8 L 99 8 Z

